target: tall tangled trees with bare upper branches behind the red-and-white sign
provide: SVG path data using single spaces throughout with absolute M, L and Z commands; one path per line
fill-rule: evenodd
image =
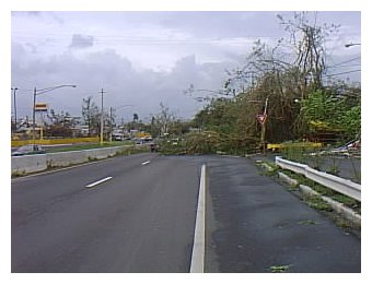
M 306 13 L 294 13 L 292 20 L 281 15 L 278 19 L 288 37 L 280 38 L 275 47 L 257 40 L 245 64 L 228 72 L 224 90 L 217 92 L 223 95 L 212 97 L 196 115 L 194 125 L 240 138 L 234 141 L 244 151 L 246 141 L 254 143 L 260 135 L 261 126 L 256 117 L 263 114 L 267 99 L 266 141 L 316 139 L 311 127 L 314 116 L 305 109 L 313 107 L 316 111 L 314 103 L 318 94 L 332 94 L 326 99 L 336 100 L 332 107 L 342 115 L 334 119 L 337 123 L 324 122 L 345 139 L 360 133 L 360 88 L 344 85 L 340 92 L 339 85 L 325 85 L 323 80 L 326 70 L 324 42 L 328 35 L 337 33 L 339 26 L 318 26 L 315 20 L 307 20 Z M 325 117 L 315 120 L 322 119 Z M 231 146 L 239 149 L 236 143 Z

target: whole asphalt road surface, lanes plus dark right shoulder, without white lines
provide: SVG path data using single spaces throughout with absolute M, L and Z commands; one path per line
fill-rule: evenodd
M 12 272 L 188 272 L 202 164 L 205 272 L 360 272 L 360 239 L 254 161 L 156 154 L 13 179 Z

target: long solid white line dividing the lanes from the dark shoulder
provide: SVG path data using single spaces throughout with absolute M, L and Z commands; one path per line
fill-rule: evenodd
M 204 273 L 206 241 L 206 165 L 201 167 L 190 273 Z

